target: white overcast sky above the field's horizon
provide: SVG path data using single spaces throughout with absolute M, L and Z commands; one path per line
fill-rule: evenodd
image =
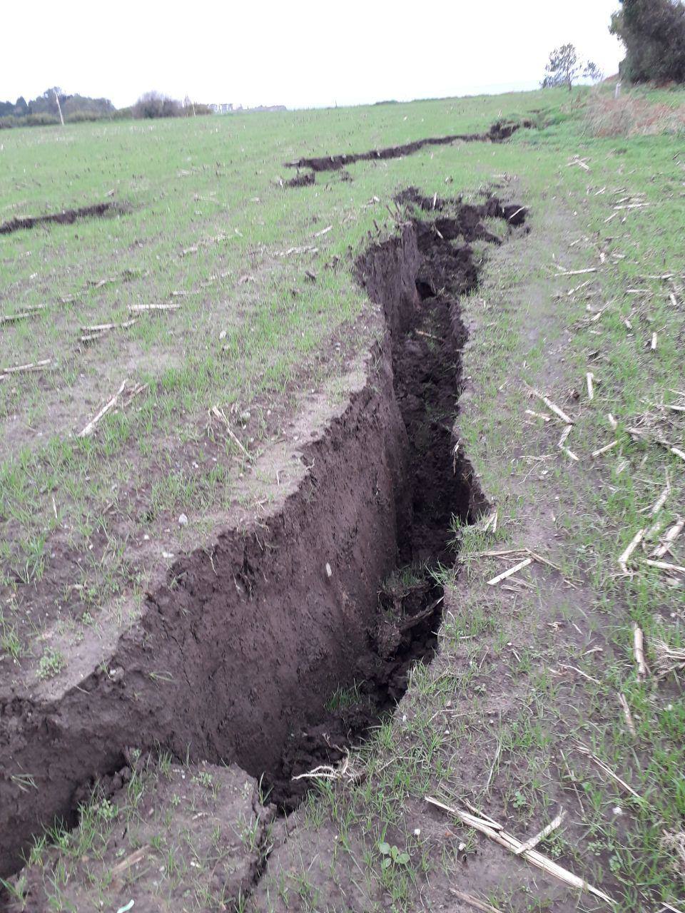
M 117 107 L 176 98 L 310 107 L 535 88 L 572 42 L 608 76 L 617 0 L 7 0 L 0 100 L 48 86 Z

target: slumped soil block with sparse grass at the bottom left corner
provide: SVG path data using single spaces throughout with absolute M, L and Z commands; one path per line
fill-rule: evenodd
M 270 815 L 235 767 L 134 760 L 31 849 L 3 881 L 8 909 L 241 908 L 267 852 Z

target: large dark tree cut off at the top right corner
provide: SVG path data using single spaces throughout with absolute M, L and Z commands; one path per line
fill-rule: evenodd
M 680 0 L 619 0 L 609 31 L 621 39 L 620 66 L 632 82 L 685 82 L 685 6 Z

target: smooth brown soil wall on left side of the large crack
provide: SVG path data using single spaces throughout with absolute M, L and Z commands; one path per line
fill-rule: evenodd
M 416 302 L 408 228 L 395 260 L 401 311 Z M 290 728 L 351 681 L 395 566 L 406 476 L 389 350 L 371 363 L 364 389 L 308 448 L 300 490 L 258 529 L 226 530 L 175 561 L 107 670 L 55 702 L 0 700 L 0 872 L 41 821 L 71 813 L 80 783 L 121 766 L 126 746 L 273 770 Z M 36 788 L 12 779 L 22 773 Z

